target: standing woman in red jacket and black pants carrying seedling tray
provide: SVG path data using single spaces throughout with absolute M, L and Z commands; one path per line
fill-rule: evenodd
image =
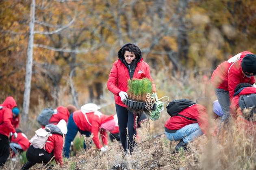
M 135 125 L 135 113 L 128 111 L 126 109 L 127 106 L 124 104 L 128 98 L 126 93 L 128 90 L 127 80 L 142 79 L 143 77 L 149 78 L 152 82 L 153 80 L 150 76 L 150 67 L 143 61 L 141 50 L 136 44 L 124 44 L 119 49 L 117 56 L 118 60 L 114 62 L 109 74 L 107 88 L 115 95 L 115 108 L 119 122 L 121 144 L 124 151 L 130 151 L 131 153 L 135 146 L 134 137 L 136 138 L 137 125 Z M 155 84 L 153 84 L 152 91 L 156 91 Z M 140 115 L 138 116 L 140 117 Z M 126 128 L 128 129 L 128 134 L 126 134 Z

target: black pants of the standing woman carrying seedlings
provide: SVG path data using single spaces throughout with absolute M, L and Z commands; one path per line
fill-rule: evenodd
M 135 114 L 128 111 L 125 107 L 115 104 L 115 109 L 117 112 L 118 127 L 119 127 L 119 136 L 121 144 L 124 148 L 124 151 L 132 152 L 135 146 L 135 138 L 137 134 L 137 125 L 135 125 Z M 140 114 L 138 115 L 138 120 L 140 119 Z M 126 131 L 128 129 L 128 133 Z M 134 138 L 135 137 L 135 138 Z

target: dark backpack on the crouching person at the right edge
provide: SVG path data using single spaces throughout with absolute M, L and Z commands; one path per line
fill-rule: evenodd
M 256 114 L 256 94 L 241 95 L 238 100 L 238 105 L 241 108 L 243 116 L 249 120 Z

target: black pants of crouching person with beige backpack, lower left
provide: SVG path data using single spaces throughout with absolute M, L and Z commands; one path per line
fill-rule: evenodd
M 48 162 L 53 157 L 53 151 L 51 153 L 48 153 L 44 149 L 34 148 L 33 146 L 29 146 L 26 157 L 28 159 L 28 162 L 22 166 L 22 170 L 28 170 L 35 164 L 41 164 L 43 162 L 43 166 L 48 164 Z M 54 159 L 52 159 L 53 161 Z

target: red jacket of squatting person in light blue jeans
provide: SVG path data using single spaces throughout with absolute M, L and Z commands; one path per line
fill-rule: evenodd
M 193 118 L 197 121 L 190 121 L 187 118 L 181 116 L 173 116 L 168 118 L 165 123 L 165 128 L 170 130 L 181 129 L 182 127 L 192 124 L 198 123 L 200 129 L 204 134 L 208 134 L 208 129 L 210 129 L 210 134 L 212 136 L 216 136 L 217 128 L 215 126 L 209 127 L 208 123 L 208 114 L 206 112 L 206 108 L 201 104 L 194 104 L 188 108 L 185 108 L 180 113 L 182 116 L 186 116 L 189 118 Z

